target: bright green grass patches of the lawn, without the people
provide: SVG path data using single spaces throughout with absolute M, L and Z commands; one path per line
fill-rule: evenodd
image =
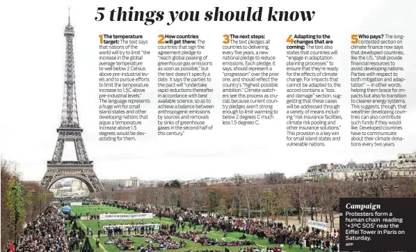
M 73 206 L 72 207 L 72 213 L 73 214 L 86 214 L 86 213 L 90 213 L 90 214 L 99 214 L 99 213 L 133 213 L 134 211 L 131 210 L 122 210 L 120 208 L 117 207 L 109 207 L 106 205 L 90 205 L 90 206 Z M 141 220 L 134 220 L 134 223 L 139 223 L 139 221 Z M 145 223 L 151 223 L 153 221 L 153 223 L 173 223 L 172 219 L 168 219 L 168 218 L 161 218 L 159 220 L 159 218 L 157 219 L 143 219 L 143 221 Z M 77 221 L 77 223 L 79 224 L 79 226 L 81 226 L 81 228 L 83 228 L 84 230 L 86 230 L 87 227 L 93 228 L 94 230 L 94 238 L 97 238 L 97 230 L 98 230 L 98 220 L 79 220 Z M 113 221 L 100 221 L 101 226 L 105 226 L 108 225 L 109 223 L 115 225 L 115 224 L 120 224 L 120 223 L 131 223 L 131 221 L 120 221 L 120 220 L 113 220 Z M 197 230 L 201 230 L 202 226 L 197 226 L 196 227 Z M 179 229 L 182 231 L 182 229 Z M 184 231 L 189 230 L 189 226 L 186 225 Z M 208 233 L 208 236 L 210 238 L 213 239 L 218 239 L 222 240 L 223 239 L 223 233 L 221 231 L 211 231 Z M 233 241 L 233 240 L 237 240 L 239 239 L 239 237 L 241 237 L 241 233 L 228 233 L 227 237 L 225 237 L 224 239 L 226 241 Z M 254 241 L 257 245 L 257 247 L 260 248 L 264 248 L 264 246 L 270 246 L 269 241 L 267 239 L 255 239 L 252 235 L 246 235 L 247 239 L 249 239 L 250 241 Z M 95 246 L 95 242 L 93 239 L 90 239 L 91 245 L 93 245 L 95 251 L 109 251 L 109 252 L 115 252 L 115 251 L 120 251 L 120 249 L 118 249 L 115 245 L 113 244 L 104 244 L 104 242 L 106 242 L 106 235 L 102 235 L 99 239 L 100 242 L 100 247 L 97 248 Z M 127 238 L 122 238 L 122 239 L 127 239 Z M 134 241 L 134 247 L 136 248 L 137 246 L 140 246 L 141 244 L 143 245 L 147 245 L 145 240 L 147 238 L 142 238 L 142 237 L 131 237 L 129 238 L 131 240 Z M 174 240 L 176 241 L 180 241 L 181 239 L 178 237 L 173 237 Z M 191 242 L 189 240 L 185 240 L 182 239 L 186 242 L 186 246 L 184 249 L 175 249 L 174 251 L 177 252 L 181 252 L 181 251 L 189 251 L 189 250 L 193 250 L 193 251 L 200 251 L 202 249 L 209 249 L 209 250 L 218 250 L 218 251 L 224 251 L 225 247 L 224 246 L 202 246 L 201 244 L 197 244 L 195 242 Z M 251 246 L 251 247 L 256 247 L 256 246 Z M 273 246 L 273 245 L 272 245 Z M 241 247 L 248 247 L 248 246 L 230 246 L 228 247 L 228 249 L 230 249 L 231 251 L 235 252 L 235 251 L 239 251 L 239 249 Z M 283 248 L 283 251 L 287 251 L 287 252 L 307 252 L 309 251 L 309 249 L 300 249 L 299 246 L 294 246 L 291 249 L 289 249 L 288 245 L 285 245 L 285 247 Z

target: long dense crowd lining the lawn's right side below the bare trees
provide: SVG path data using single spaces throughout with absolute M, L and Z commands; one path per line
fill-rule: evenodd
M 137 212 L 152 212 L 159 219 L 166 217 L 173 219 L 175 223 L 168 225 L 170 235 L 176 229 L 184 230 L 184 226 L 196 230 L 196 226 L 202 226 L 202 232 L 211 230 L 222 230 L 225 232 L 240 232 L 253 235 L 258 239 L 268 239 L 270 244 L 288 244 L 323 249 L 326 251 L 338 251 L 339 230 L 323 231 L 314 228 L 296 228 L 296 226 L 284 226 L 283 223 L 274 221 L 259 221 L 247 218 L 232 218 L 225 216 L 202 216 L 186 210 L 173 210 L 168 207 L 152 207 L 129 202 L 116 202 L 105 200 L 104 205 L 112 205 L 123 209 L 134 210 Z

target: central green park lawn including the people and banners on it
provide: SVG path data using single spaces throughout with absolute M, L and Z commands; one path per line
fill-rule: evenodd
M 71 215 L 72 216 L 94 216 L 97 214 L 118 214 L 118 213 L 126 213 L 126 214 L 135 214 L 136 212 L 134 210 L 125 210 L 118 207 L 108 206 L 108 205 L 81 205 L 81 206 L 72 206 Z M 87 215 L 88 214 L 88 215 Z M 134 219 L 134 220 L 100 220 L 100 219 L 77 219 L 77 226 L 81 228 L 85 233 L 87 233 L 87 230 L 90 230 L 90 228 L 93 230 L 93 236 L 87 235 L 90 237 L 90 243 L 93 245 L 95 251 L 120 251 L 115 244 L 109 244 L 108 232 L 106 234 L 100 235 L 98 238 L 97 232 L 100 228 L 104 226 L 118 226 L 118 225 L 138 225 L 140 223 L 159 223 L 159 226 L 163 224 L 168 225 L 174 225 L 175 221 L 168 217 L 154 217 L 153 219 Z M 243 233 L 239 232 L 230 232 L 226 233 L 226 236 L 224 235 L 224 232 L 222 230 L 210 230 L 209 232 L 202 233 L 202 225 L 195 226 L 195 229 L 193 226 L 189 227 L 189 225 L 186 223 L 184 225 L 184 228 L 177 228 L 178 235 L 182 235 L 183 238 L 173 235 L 172 239 L 173 242 L 176 242 L 179 244 L 180 242 L 186 244 L 183 248 L 175 249 L 176 251 L 224 251 L 225 248 L 230 249 L 230 251 L 241 251 L 241 249 L 253 249 L 257 251 L 262 251 L 267 248 L 273 248 L 275 251 L 278 251 L 277 248 L 282 249 L 282 251 L 307 251 L 308 249 L 301 249 L 298 245 L 292 246 L 289 249 L 289 245 L 286 244 L 281 246 L 282 244 L 270 244 L 268 239 L 259 239 L 259 237 L 256 237 L 255 235 L 249 235 L 245 234 L 246 237 L 243 241 L 239 238 L 242 237 Z M 154 233 L 159 233 L 161 230 L 154 230 Z M 130 233 L 130 235 L 129 235 Z M 146 235 L 136 235 L 139 234 L 139 230 L 136 230 L 134 232 L 132 229 L 131 231 L 123 230 L 122 235 L 117 235 L 117 240 L 121 239 L 123 242 L 129 241 L 129 243 L 132 245 L 131 248 L 134 248 L 134 250 L 140 250 L 140 248 L 143 246 L 145 249 L 148 245 L 152 245 L 157 250 L 159 250 L 159 246 L 161 244 L 157 243 L 149 243 L 150 239 L 149 237 L 146 237 Z M 208 237 L 212 243 L 216 241 L 216 244 L 218 245 L 208 245 L 204 246 L 200 242 L 193 242 L 189 239 L 188 236 L 185 234 L 190 233 L 198 233 L 200 237 Z M 139 237 L 143 236 L 143 237 Z M 186 236 L 186 238 L 184 238 Z M 93 239 L 91 239 L 93 237 Z M 165 237 L 168 237 L 165 235 Z M 95 240 L 99 239 L 99 247 L 97 248 L 95 245 Z M 146 242 L 147 241 L 147 242 Z M 238 245 L 240 242 L 243 242 L 243 244 L 250 244 L 250 245 Z M 122 242 L 118 242 L 121 244 Z M 131 249 L 133 250 L 133 249 Z M 147 249 L 146 249 L 147 250 Z

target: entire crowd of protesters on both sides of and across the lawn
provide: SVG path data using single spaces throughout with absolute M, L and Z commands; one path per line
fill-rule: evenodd
M 94 201 L 97 204 L 97 202 Z M 259 221 L 247 218 L 232 218 L 229 216 L 204 216 L 202 214 L 193 213 L 186 210 L 173 210 L 166 207 L 151 207 L 148 205 L 139 205 L 127 202 L 115 202 L 106 200 L 99 204 L 112 205 L 137 212 L 151 212 L 157 218 L 166 217 L 173 219 L 173 223 L 162 223 L 159 226 L 159 232 L 154 232 L 154 228 L 145 226 L 137 226 L 133 222 L 131 225 L 127 223 L 127 228 L 120 225 L 111 224 L 104 230 L 100 227 L 99 220 L 97 235 L 107 233 L 108 239 L 106 244 L 115 244 L 121 250 L 141 250 L 143 252 L 152 252 L 163 249 L 183 249 L 186 246 L 184 240 L 199 243 L 202 246 L 224 246 L 225 252 L 229 251 L 230 246 L 249 246 L 241 248 L 241 252 L 255 252 L 253 246 L 256 245 L 255 239 L 268 239 L 271 246 L 268 251 L 275 252 L 280 250 L 280 244 L 288 244 L 291 246 L 307 247 L 311 249 L 322 249 L 325 251 L 338 251 L 339 230 L 326 232 L 323 230 L 315 230 L 313 228 L 296 228 L 296 226 L 284 226 L 282 223 L 274 221 Z M 34 223 L 24 230 L 24 235 L 19 242 L 19 246 L 15 248 L 15 244 L 10 243 L 8 251 L 56 251 L 66 252 L 78 250 L 83 239 L 87 235 L 93 235 L 93 230 L 87 228 L 66 228 L 64 214 L 59 211 L 59 207 L 51 205 L 47 207 L 45 212 Z M 90 216 L 99 216 L 93 214 Z M 79 218 L 79 216 L 78 216 Z M 76 225 L 77 216 L 72 217 L 72 221 L 68 225 Z M 140 224 L 140 223 L 138 223 Z M 142 221 L 143 224 L 143 221 Z M 198 226 L 198 229 L 197 229 Z M 186 231 L 184 231 L 185 227 Z M 182 232 L 180 231 L 182 230 Z M 207 236 L 211 230 L 222 231 L 223 237 L 229 232 L 242 233 L 239 239 L 232 241 L 225 238 L 218 241 Z M 251 235 L 252 239 L 247 239 L 246 235 Z M 122 238 L 127 239 L 122 239 Z M 147 245 L 141 244 L 134 247 L 134 242 L 130 237 L 145 237 Z M 175 240 L 173 237 L 181 238 Z M 99 246 L 99 239 L 96 239 Z M 262 249 L 264 251 L 264 248 Z M 196 252 L 196 251 L 195 251 Z M 198 251 L 202 252 L 202 251 Z M 211 250 L 209 251 L 211 252 Z M 214 252 L 214 251 L 213 251 Z

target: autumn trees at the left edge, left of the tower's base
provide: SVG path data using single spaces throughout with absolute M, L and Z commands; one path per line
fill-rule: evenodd
M 38 183 L 22 182 L 17 164 L 1 159 L 1 248 L 15 241 L 24 226 L 51 203 L 53 194 Z

